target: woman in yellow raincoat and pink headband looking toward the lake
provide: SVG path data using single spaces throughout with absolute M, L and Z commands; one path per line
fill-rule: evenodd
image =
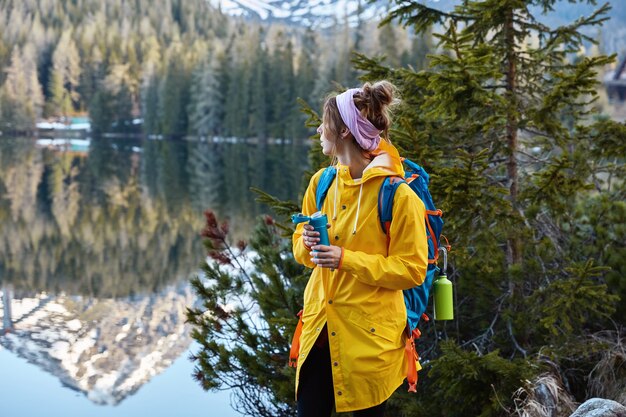
M 296 260 L 314 268 L 304 292 L 299 417 L 330 416 L 333 405 L 355 417 L 383 416 L 385 402 L 406 375 L 402 290 L 423 282 L 428 248 L 425 239 L 416 238 L 426 233 L 424 205 L 408 186 L 395 194 L 389 236 L 377 217 L 384 178 L 404 177 L 387 135 L 393 102 L 393 85 L 380 81 L 324 103 L 318 132 L 324 154 L 337 168 L 322 207 L 332 219 L 330 246 L 320 245 L 319 233 L 309 225 L 298 225 L 293 235 Z M 306 215 L 317 211 L 322 171 L 304 196 Z

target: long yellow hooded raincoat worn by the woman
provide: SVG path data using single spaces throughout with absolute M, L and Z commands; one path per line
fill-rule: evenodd
M 293 235 L 295 259 L 315 268 L 304 291 L 296 392 L 300 369 L 327 324 L 337 412 L 376 406 L 402 384 L 408 367 L 402 290 L 421 284 L 428 266 L 426 239 L 418 238 L 426 236 L 424 204 L 405 184 L 394 198 L 387 246 L 378 219 L 378 191 L 385 177 L 404 177 L 404 170 L 390 143 L 381 140 L 375 153 L 360 180 L 339 164 L 323 204 L 331 223 L 330 244 L 344 248 L 339 269 L 311 262 L 301 238 L 303 224 Z M 304 196 L 305 215 L 317 211 L 315 190 L 321 173 L 311 178 Z

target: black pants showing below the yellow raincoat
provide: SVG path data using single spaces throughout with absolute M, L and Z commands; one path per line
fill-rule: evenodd
M 354 411 L 352 415 L 354 417 L 383 417 L 385 403 L 386 401 L 375 407 Z M 325 343 L 316 343 L 313 346 L 300 369 L 298 417 L 330 417 L 334 406 L 333 374 L 326 339 Z

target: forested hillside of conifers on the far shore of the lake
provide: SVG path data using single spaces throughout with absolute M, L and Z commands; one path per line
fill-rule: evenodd
M 296 98 L 350 85 L 352 49 L 421 67 L 430 36 L 251 23 L 203 0 L 1 0 L 0 130 L 88 112 L 96 131 L 304 137 Z

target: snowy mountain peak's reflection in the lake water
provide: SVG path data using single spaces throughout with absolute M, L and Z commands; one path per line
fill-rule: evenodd
M 46 293 L 13 299 L 13 330 L 0 345 L 91 401 L 117 404 L 186 351 L 185 308 L 193 302 L 186 284 L 118 300 Z M 0 315 L 4 321 L 5 308 Z

